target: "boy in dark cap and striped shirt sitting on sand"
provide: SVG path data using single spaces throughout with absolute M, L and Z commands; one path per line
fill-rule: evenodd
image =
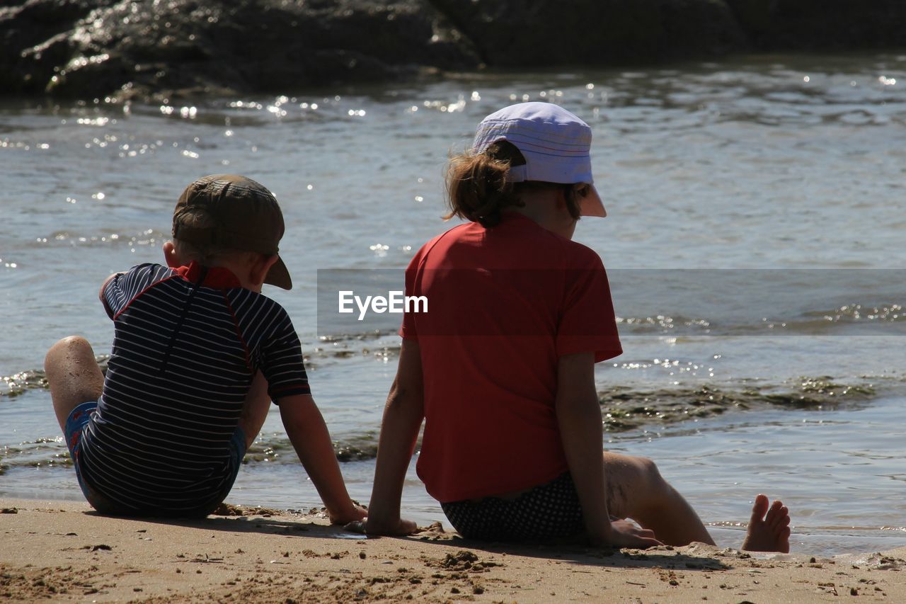
M 280 208 L 259 183 L 196 180 L 173 213 L 167 266 L 140 265 L 101 286 L 114 326 L 106 378 L 81 337 L 47 353 L 53 409 L 97 511 L 211 513 L 273 400 L 331 521 L 365 515 L 346 491 L 293 324 L 261 295 L 263 283 L 292 287 L 277 255 L 283 234 Z

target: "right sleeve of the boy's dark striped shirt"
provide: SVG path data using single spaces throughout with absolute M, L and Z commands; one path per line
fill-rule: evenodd
M 310 395 L 312 389 L 305 373 L 302 343 L 293 322 L 282 307 L 277 307 L 275 330 L 261 348 L 261 371 L 267 379 L 267 395 L 275 404 L 284 396 Z

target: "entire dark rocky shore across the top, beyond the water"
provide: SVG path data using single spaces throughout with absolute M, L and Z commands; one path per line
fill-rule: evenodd
M 294 92 L 906 46 L 901 0 L 0 0 L 0 95 Z

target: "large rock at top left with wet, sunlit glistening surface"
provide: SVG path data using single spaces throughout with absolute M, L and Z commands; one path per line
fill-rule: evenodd
M 0 9 L 5 92 L 287 91 L 477 64 L 419 0 L 64 0 L 59 13 L 58 4 Z

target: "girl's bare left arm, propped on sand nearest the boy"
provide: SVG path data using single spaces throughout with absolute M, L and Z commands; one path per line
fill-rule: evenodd
M 415 522 L 400 518 L 400 499 L 424 416 L 419 343 L 403 340 L 400 365 L 381 421 L 378 461 L 365 525 L 370 535 L 408 535 L 418 530 Z

